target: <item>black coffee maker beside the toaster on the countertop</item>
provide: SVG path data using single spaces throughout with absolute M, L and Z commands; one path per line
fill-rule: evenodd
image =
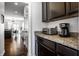
M 69 23 L 61 23 L 60 25 L 60 29 L 61 31 L 59 32 L 59 35 L 62 37 L 69 37 L 70 33 L 69 33 Z

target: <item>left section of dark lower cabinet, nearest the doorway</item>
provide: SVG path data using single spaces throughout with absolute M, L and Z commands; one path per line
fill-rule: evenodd
M 55 43 L 38 37 L 38 56 L 56 56 Z

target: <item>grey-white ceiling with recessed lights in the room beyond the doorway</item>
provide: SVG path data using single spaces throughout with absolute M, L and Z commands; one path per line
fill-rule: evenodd
M 26 5 L 23 2 L 5 2 L 5 16 L 23 18 Z

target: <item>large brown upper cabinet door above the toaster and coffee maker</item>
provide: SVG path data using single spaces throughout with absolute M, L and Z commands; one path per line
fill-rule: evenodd
M 58 18 L 65 15 L 66 4 L 64 2 L 48 2 L 47 17 L 48 19 Z

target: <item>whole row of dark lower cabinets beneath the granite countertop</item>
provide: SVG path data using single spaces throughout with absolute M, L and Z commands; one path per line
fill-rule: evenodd
M 78 56 L 79 51 L 62 44 L 37 37 L 38 56 Z

